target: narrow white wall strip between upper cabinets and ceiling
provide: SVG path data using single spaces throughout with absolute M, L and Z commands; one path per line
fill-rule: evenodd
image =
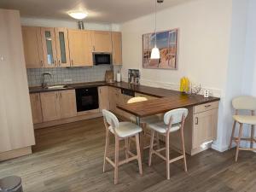
M 68 27 L 76 29 L 78 24 L 76 20 L 47 20 L 36 18 L 21 18 L 21 25 L 23 26 L 47 26 L 47 27 Z M 105 24 L 105 23 L 88 23 L 84 21 L 84 29 L 88 30 L 102 30 L 119 32 L 119 24 Z

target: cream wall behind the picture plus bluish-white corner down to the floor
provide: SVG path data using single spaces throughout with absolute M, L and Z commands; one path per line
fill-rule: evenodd
M 224 151 L 232 126 L 230 103 L 242 95 L 246 27 L 247 0 L 197 0 L 160 11 L 157 31 L 180 30 L 178 70 L 156 70 L 142 67 L 142 35 L 154 31 L 154 15 L 125 22 L 121 25 L 124 79 L 127 69 L 138 68 L 142 84 L 175 90 L 179 79 L 188 76 L 220 96 L 218 139 L 212 148 Z

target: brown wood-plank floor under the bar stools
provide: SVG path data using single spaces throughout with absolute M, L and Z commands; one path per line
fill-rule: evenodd
M 182 161 L 172 164 L 169 181 L 165 162 L 153 156 L 148 167 L 146 151 L 143 177 L 134 161 L 120 167 L 119 184 L 113 185 L 112 167 L 102 173 L 104 139 L 101 118 L 38 130 L 33 154 L 0 163 L 0 177 L 22 177 L 25 192 L 256 191 L 256 154 L 242 151 L 235 163 L 235 150 L 212 149 L 188 156 L 188 173 Z

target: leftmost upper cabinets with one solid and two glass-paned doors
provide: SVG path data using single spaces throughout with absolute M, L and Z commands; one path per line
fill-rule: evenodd
M 70 67 L 66 28 L 22 26 L 27 68 Z

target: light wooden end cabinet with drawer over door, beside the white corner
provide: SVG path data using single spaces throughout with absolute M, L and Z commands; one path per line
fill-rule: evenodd
M 218 102 L 197 105 L 188 108 L 189 114 L 184 125 L 184 142 L 186 153 L 194 155 L 211 147 L 217 137 Z M 179 132 L 170 134 L 174 148 L 181 149 Z

